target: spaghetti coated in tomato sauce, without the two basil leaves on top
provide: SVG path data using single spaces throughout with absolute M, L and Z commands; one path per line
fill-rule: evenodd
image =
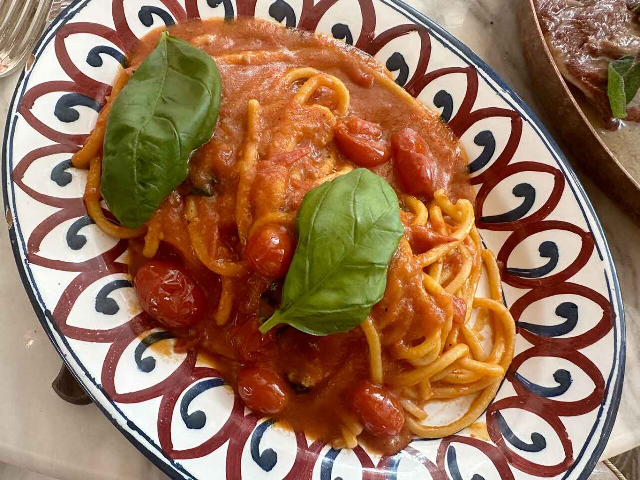
M 254 376 L 257 368 L 266 371 L 261 378 L 272 379 L 265 380 L 272 386 L 284 379 L 286 403 L 258 409 L 336 448 L 363 442 L 396 452 L 413 435 L 443 437 L 474 422 L 511 363 L 515 324 L 502 303 L 495 257 L 475 227 L 458 140 L 376 61 L 332 39 L 259 20 L 175 26 L 172 35 L 218 61 L 220 121 L 213 139 L 192 157 L 186 184 L 147 225 L 120 227 L 100 205 L 102 142 L 113 101 L 157 35 L 133 52 L 132 67 L 116 80 L 73 164 L 90 169 L 84 200 L 95 223 L 110 236 L 130 239 L 132 274 L 148 259 L 177 262 L 204 291 L 204 300 L 195 295 L 191 305 L 197 310 L 202 303 L 205 319 L 170 325 L 179 348 L 211 354 L 238 390 L 248 368 Z M 227 39 L 224 50 L 216 38 Z M 337 136 L 344 125 L 347 140 Z M 407 136 L 408 126 L 418 132 L 414 137 Z M 417 150 L 403 147 L 407 138 Z M 371 163 L 362 165 L 362 155 L 353 152 L 372 152 Z M 417 180 L 403 177 L 402 156 L 433 164 L 432 191 L 417 193 Z M 303 196 L 357 166 L 385 178 L 403 209 L 405 235 L 388 266 L 383 299 L 348 333 L 312 337 L 289 327 L 262 337 L 259 319 L 278 307 L 282 287 L 269 248 L 277 240 L 278 255 L 291 253 Z M 483 282 L 488 298 L 478 296 Z M 372 387 L 355 392 L 358 382 Z M 394 407 L 388 418 L 398 429 L 365 414 L 362 401 L 371 406 L 372 392 L 384 397 L 385 408 Z M 430 424 L 430 403 L 460 397 L 468 397 L 467 411 L 450 424 Z

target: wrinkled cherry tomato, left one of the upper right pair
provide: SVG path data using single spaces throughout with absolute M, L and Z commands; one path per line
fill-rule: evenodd
M 333 138 L 340 151 L 357 166 L 371 168 L 389 161 L 391 157 L 388 142 L 381 140 L 380 125 L 357 116 L 342 120 L 335 127 Z

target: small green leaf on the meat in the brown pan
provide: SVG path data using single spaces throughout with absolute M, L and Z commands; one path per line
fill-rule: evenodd
M 627 105 L 640 89 L 640 63 L 634 57 L 623 57 L 609 63 L 607 94 L 614 118 L 627 116 Z

